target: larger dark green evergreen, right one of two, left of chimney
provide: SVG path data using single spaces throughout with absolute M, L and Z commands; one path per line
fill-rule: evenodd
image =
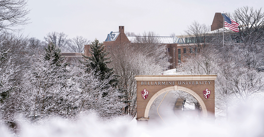
M 94 72 L 101 76 L 101 80 L 108 79 L 111 75 L 113 75 L 113 68 L 109 68 L 107 64 L 111 62 L 110 57 L 107 57 L 109 52 L 106 52 L 104 49 L 103 43 L 99 43 L 99 40 L 95 39 L 91 45 L 91 55 L 90 57 L 84 56 L 84 62 L 86 72 Z M 110 83 L 113 84 L 115 80 L 111 80 Z

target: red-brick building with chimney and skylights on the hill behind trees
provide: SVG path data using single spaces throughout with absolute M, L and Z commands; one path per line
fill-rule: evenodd
M 213 23 L 211 25 L 211 32 L 208 32 L 208 35 L 213 34 L 214 30 L 219 28 L 223 28 L 223 16 L 221 13 L 215 13 Z M 111 50 L 115 46 L 133 43 L 136 37 L 143 37 L 143 36 L 127 36 L 124 33 L 124 26 L 119 26 L 118 32 L 111 31 L 107 34 L 105 41 L 103 42 L 105 48 L 107 50 Z M 176 35 L 174 37 L 160 37 L 156 36 L 160 44 L 167 45 L 167 53 L 172 57 L 170 59 L 170 63 L 172 64 L 168 69 L 174 69 L 181 62 L 184 62 L 183 57 L 185 55 L 192 55 L 193 53 L 198 52 L 198 47 L 196 46 L 194 41 L 196 39 L 206 39 L 207 36 L 202 36 L 201 38 L 196 38 L 192 35 Z M 91 49 L 89 45 L 84 45 L 84 55 L 91 56 Z

